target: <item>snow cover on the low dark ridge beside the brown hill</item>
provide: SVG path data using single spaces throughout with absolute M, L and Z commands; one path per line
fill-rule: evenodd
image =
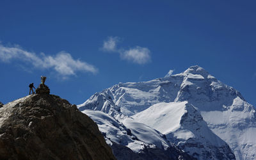
M 105 135 L 109 145 L 111 145 L 111 141 L 114 141 L 129 147 L 134 152 L 143 150 L 144 145 L 163 149 L 170 147 L 168 141 L 162 137 L 163 134 L 131 118 L 127 118 L 121 123 L 102 111 L 86 109 L 83 113 L 90 116 L 97 123 L 100 132 Z

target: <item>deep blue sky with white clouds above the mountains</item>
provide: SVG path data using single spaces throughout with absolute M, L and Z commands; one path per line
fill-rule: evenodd
M 191 65 L 256 106 L 255 1 L 1 1 L 0 101 L 51 93 L 81 104 L 119 82 Z

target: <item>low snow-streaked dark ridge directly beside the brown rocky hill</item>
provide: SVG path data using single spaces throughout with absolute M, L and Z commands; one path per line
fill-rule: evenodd
M 120 123 L 102 111 L 84 110 L 98 125 L 117 159 L 192 159 L 151 127 L 125 118 Z

